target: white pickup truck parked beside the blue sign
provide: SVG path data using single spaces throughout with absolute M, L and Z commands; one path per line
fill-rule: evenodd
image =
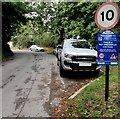
M 87 40 L 67 39 L 64 40 L 63 46 L 58 45 L 58 47 L 56 54 L 61 77 L 65 76 L 65 72 L 68 70 L 99 73 L 97 51 Z

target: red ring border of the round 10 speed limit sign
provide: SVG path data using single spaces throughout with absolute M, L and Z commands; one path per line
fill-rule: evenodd
M 97 16 L 98 16 L 98 13 L 99 13 L 100 9 L 101 9 L 103 6 L 105 6 L 105 5 L 112 5 L 112 6 L 114 6 L 114 7 L 116 8 L 116 10 L 118 11 L 118 16 L 117 16 L 115 22 L 113 22 L 113 24 L 112 24 L 111 26 L 109 26 L 109 27 L 103 27 L 102 25 L 100 25 L 100 24 L 98 23 L 98 20 L 97 20 Z M 96 14 L 95 14 L 95 22 L 96 22 L 97 26 L 98 26 L 100 29 L 102 29 L 102 30 L 108 30 L 108 29 L 113 28 L 113 27 L 118 23 L 119 18 L 120 18 L 120 9 L 119 9 L 118 5 L 116 5 L 116 4 L 113 3 L 113 2 L 105 2 L 105 3 L 103 3 L 102 5 L 99 6 L 99 8 L 97 9 Z

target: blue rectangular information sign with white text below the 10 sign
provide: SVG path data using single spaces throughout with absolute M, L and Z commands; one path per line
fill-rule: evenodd
M 98 65 L 118 65 L 118 34 L 98 34 Z

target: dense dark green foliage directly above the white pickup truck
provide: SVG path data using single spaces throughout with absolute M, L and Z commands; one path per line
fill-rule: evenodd
M 93 39 L 93 37 L 96 37 L 97 26 L 94 21 L 94 14 L 98 5 L 89 2 L 56 4 L 55 17 L 49 22 L 51 32 L 57 33 L 57 30 L 62 27 L 64 29 L 63 37 L 77 37 L 79 35 L 87 40 Z

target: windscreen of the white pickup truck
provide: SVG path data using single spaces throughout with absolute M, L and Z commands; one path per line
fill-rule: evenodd
M 90 48 L 90 44 L 87 41 L 72 41 L 65 45 L 66 48 Z

